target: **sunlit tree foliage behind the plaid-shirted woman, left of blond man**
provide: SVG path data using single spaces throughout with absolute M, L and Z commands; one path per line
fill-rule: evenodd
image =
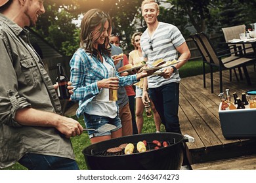
M 135 31 L 133 25 L 142 0 L 49 0 L 45 1 L 45 14 L 37 22 L 37 32 L 56 49 L 65 55 L 75 52 L 79 46 L 79 27 L 72 20 L 77 20 L 80 14 L 85 14 L 91 8 L 100 8 L 109 12 L 112 17 L 112 27 L 124 32 L 123 37 L 129 41 Z

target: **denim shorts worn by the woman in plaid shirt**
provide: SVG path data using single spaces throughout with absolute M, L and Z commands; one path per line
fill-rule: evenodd
M 121 120 L 118 117 L 118 115 L 116 116 L 116 118 L 113 119 L 113 118 L 108 118 L 104 116 L 89 115 L 89 114 L 83 113 L 83 117 L 84 117 L 85 125 L 87 128 L 98 129 L 98 127 L 104 124 L 112 124 L 116 126 L 116 128 L 112 129 L 112 131 L 107 131 L 105 133 L 99 133 L 96 131 L 89 130 L 88 135 L 90 139 L 93 137 L 111 135 L 112 132 L 117 131 L 122 127 Z

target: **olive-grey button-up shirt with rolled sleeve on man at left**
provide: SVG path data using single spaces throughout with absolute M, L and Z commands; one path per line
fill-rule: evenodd
M 28 152 L 75 159 L 70 139 L 60 137 L 54 127 L 14 120 L 16 110 L 24 107 L 61 114 L 53 83 L 29 45 L 28 31 L 0 13 L 0 168 Z

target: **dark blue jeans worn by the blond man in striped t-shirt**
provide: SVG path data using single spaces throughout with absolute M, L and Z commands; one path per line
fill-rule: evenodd
M 167 132 L 181 133 L 179 110 L 179 83 L 171 82 L 158 88 L 148 89 L 156 110 Z

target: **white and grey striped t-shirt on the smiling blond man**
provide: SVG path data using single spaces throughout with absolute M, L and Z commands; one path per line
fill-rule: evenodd
M 175 26 L 159 22 L 152 37 L 148 35 L 148 29 L 140 37 L 140 46 L 144 58 L 148 58 L 149 66 L 158 59 L 172 61 L 178 58 L 177 47 L 185 42 L 181 31 Z M 150 49 L 152 46 L 153 50 Z M 171 82 L 180 82 L 179 72 L 171 78 L 165 79 L 163 76 L 148 76 L 148 88 L 157 88 Z

